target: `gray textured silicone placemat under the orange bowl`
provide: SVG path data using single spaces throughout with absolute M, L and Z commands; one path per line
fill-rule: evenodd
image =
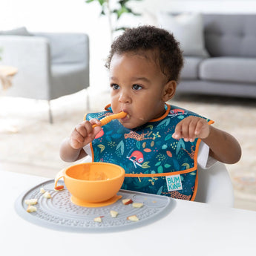
M 65 186 L 61 180 L 58 185 Z M 43 197 L 40 188 L 48 191 L 51 198 Z M 169 197 L 125 190 L 117 193 L 122 195 L 122 198 L 110 206 L 82 207 L 70 201 L 70 192 L 66 187 L 62 191 L 55 191 L 53 188 L 54 180 L 48 180 L 25 191 L 16 200 L 16 212 L 25 220 L 49 229 L 69 232 L 115 232 L 153 223 L 168 214 L 174 207 L 174 200 Z M 38 200 L 35 205 L 37 211 L 29 213 L 24 201 L 32 198 Z M 143 203 L 143 206 L 139 209 L 135 209 L 131 204 L 125 206 L 122 203 L 122 199 L 125 198 L 131 198 L 136 203 Z M 111 210 L 118 211 L 117 217 L 111 217 Z M 139 218 L 138 222 L 127 220 L 128 216 L 134 214 Z M 102 217 L 102 222 L 96 223 L 95 217 Z

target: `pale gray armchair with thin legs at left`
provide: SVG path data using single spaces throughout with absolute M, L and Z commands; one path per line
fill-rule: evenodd
M 89 86 L 89 39 L 85 33 L 29 33 L 24 27 L 0 31 L 0 65 L 18 73 L 7 96 L 50 100 Z

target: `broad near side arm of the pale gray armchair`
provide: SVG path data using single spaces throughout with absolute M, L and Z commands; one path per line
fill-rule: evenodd
M 50 46 L 35 36 L 0 36 L 1 65 L 18 69 L 7 96 L 48 99 L 50 91 Z

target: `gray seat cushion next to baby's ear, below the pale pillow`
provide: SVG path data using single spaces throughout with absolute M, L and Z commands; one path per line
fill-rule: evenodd
M 203 58 L 185 56 L 184 66 L 180 73 L 181 79 L 198 79 L 198 67 Z

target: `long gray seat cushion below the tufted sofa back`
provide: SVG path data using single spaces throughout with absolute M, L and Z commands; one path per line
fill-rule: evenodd
M 256 59 L 215 57 L 204 59 L 199 65 L 200 79 L 226 82 L 256 81 Z

